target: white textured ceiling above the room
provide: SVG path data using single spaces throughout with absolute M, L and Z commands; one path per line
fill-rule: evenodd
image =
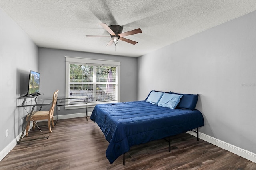
M 256 1 L 1 0 L 1 8 L 38 45 L 138 57 L 256 10 Z M 98 23 L 142 33 L 106 46 L 110 35 Z

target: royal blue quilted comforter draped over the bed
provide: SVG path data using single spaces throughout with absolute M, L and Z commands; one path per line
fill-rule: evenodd
M 90 119 L 98 124 L 109 142 L 106 157 L 111 164 L 133 145 L 204 126 L 198 110 L 169 109 L 145 100 L 98 104 Z

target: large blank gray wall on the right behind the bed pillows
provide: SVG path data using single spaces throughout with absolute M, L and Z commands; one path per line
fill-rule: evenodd
M 256 153 L 256 12 L 138 59 L 138 100 L 150 90 L 200 94 L 200 131 Z

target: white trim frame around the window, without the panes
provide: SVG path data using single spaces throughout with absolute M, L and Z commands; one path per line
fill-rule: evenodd
M 97 65 L 97 66 L 114 66 L 117 67 L 117 99 L 112 101 L 104 101 L 104 102 L 90 102 L 88 103 L 88 107 L 94 107 L 97 104 L 103 104 L 103 103 L 115 103 L 120 101 L 120 61 L 114 61 L 114 60 L 103 60 L 103 59 L 88 59 L 88 58 L 82 58 L 82 57 L 69 57 L 65 56 L 66 58 L 66 82 L 65 82 L 65 98 L 69 97 L 69 64 L 83 64 L 83 65 Z M 85 104 L 84 104 L 85 105 Z M 84 108 L 84 105 L 66 105 L 65 109 L 79 109 Z

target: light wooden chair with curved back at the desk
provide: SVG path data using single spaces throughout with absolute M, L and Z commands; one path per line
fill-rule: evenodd
M 34 111 L 32 113 L 30 121 L 33 121 L 33 129 L 35 129 L 36 121 L 48 119 L 49 132 L 52 133 L 51 121 L 52 121 L 52 127 L 54 127 L 53 113 L 54 113 L 54 108 L 55 108 L 57 97 L 58 97 L 58 92 L 59 92 L 59 90 L 56 90 L 56 92 L 54 92 L 54 94 L 53 94 L 52 107 L 51 107 L 50 111 Z M 27 115 L 26 120 L 28 120 L 28 117 L 29 117 L 29 115 Z M 28 125 L 26 127 L 26 136 L 28 136 L 28 130 L 30 128 L 30 121 L 28 121 Z

